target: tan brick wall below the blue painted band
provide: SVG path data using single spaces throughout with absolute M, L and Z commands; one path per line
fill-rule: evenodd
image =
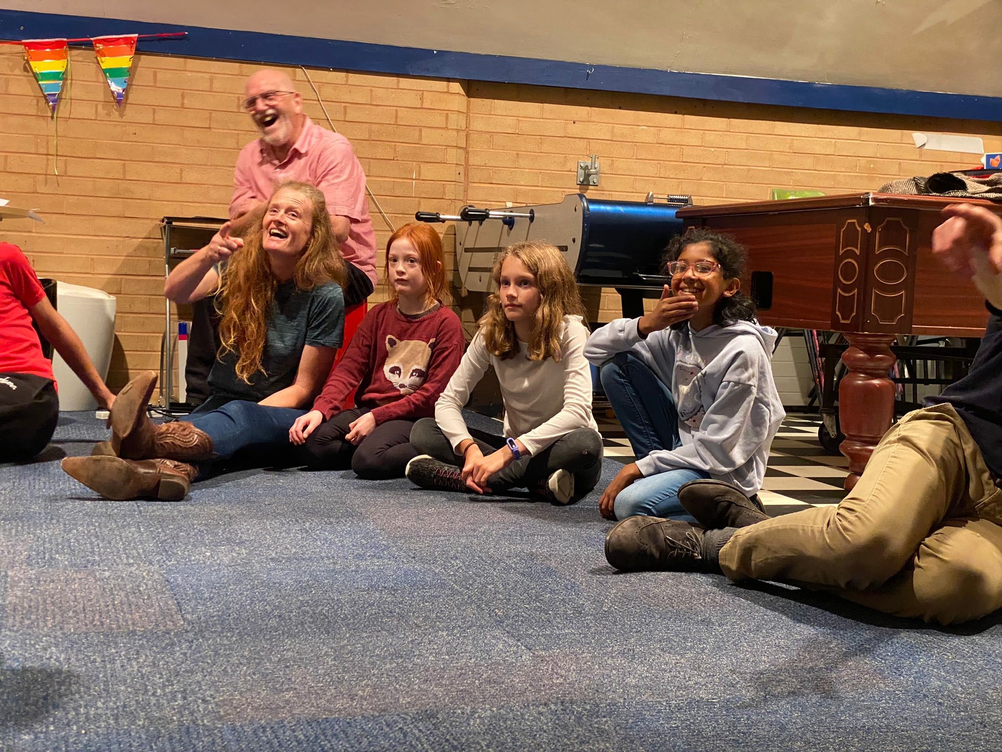
M 256 135 L 238 100 L 257 67 L 141 54 L 119 111 L 92 51 L 74 49 L 53 122 L 20 51 L 0 54 L 0 197 L 46 219 L 45 226 L 7 221 L 0 237 L 19 245 L 40 276 L 117 297 L 112 388 L 158 367 L 159 219 L 224 216 L 236 152 Z M 293 72 L 308 114 L 326 123 L 305 74 Z M 602 165 L 593 197 L 637 200 L 653 191 L 710 204 L 768 199 L 774 186 L 866 191 L 972 163 L 969 154 L 917 150 L 913 130 L 1002 144 L 998 123 L 350 71 L 310 75 L 397 226 L 419 208 L 559 201 L 578 191 L 574 167 L 590 153 Z M 371 211 L 385 245 L 389 227 Z M 375 299 L 383 299 L 381 290 Z M 617 306 L 614 294 L 604 295 L 601 318 Z

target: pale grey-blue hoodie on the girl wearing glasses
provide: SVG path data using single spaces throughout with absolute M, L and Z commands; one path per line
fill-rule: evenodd
M 647 476 L 688 467 L 748 495 L 758 493 L 769 447 L 786 417 L 770 364 L 776 331 L 737 321 L 699 332 L 688 326 L 662 329 L 643 339 L 638 322 L 616 319 L 596 330 L 584 357 L 598 366 L 631 351 L 671 387 L 681 446 L 638 459 L 640 472 Z

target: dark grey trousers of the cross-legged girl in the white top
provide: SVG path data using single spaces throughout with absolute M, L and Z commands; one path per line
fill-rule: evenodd
M 470 431 L 484 456 L 505 445 L 504 436 Z M 452 449 L 452 443 L 442 433 L 433 418 L 422 418 L 414 424 L 411 443 L 421 454 L 462 467 L 463 458 Z M 602 472 L 602 437 L 591 428 L 576 428 L 532 457 L 522 457 L 488 480 L 494 492 L 509 488 L 531 488 L 557 470 L 574 474 L 574 496 L 583 496 L 595 487 Z

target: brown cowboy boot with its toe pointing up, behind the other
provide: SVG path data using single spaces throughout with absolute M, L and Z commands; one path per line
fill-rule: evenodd
M 156 374 L 152 371 L 139 374 L 125 385 L 111 405 L 111 441 L 97 444 L 94 452 L 125 459 L 211 459 L 212 439 L 204 431 L 183 421 L 156 425 L 147 417 L 146 407 L 155 386 Z

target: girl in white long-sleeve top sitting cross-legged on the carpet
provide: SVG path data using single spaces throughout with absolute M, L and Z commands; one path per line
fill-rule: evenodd
M 476 493 L 526 487 L 569 503 L 595 486 L 602 462 L 577 284 L 545 243 L 509 247 L 491 275 L 498 292 L 435 404 L 435 419 L 419 420 L 411 432 L 425 454 L 410 461 L 407 477 L 425 488 Z M 463 420 L 489 367 L 501 385 L 504 436 L 471 432 Z

